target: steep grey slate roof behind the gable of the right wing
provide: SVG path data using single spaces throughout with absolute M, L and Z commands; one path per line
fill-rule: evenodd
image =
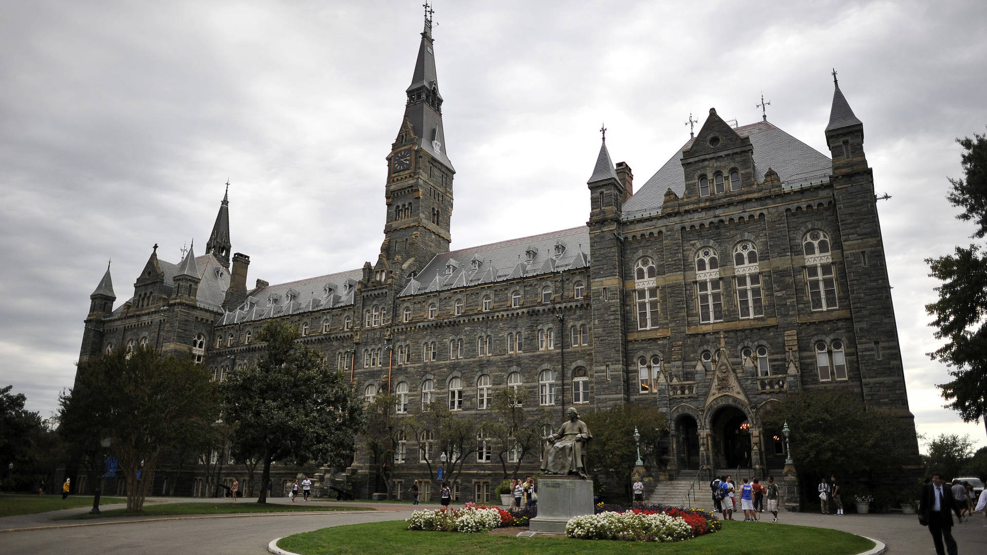
M 759 180 L 764 179 L 765 172 L 771 168 L 778 173 L 782 187 L 792 189 L 825 181 L 832 173 L 832 161 L 828 156 L 769 121 L 757 121 L 734 130 L 740 136 L 750 137 L 754 150 L 754 175 Z M 682 197 L 685 193 L 682 151 L 692 146 L 694 140 L 689 139 L 682 145 L 633 197 L 624 202 L 624 219 L 661 213 L 661 204 L 669 189 Z

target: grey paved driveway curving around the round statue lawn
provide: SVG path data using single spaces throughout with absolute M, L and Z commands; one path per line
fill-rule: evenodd
M 175 499 L 167 502 L 231 503 L 215 499 Z M 271 503 L 289 503 L 274 498 Z M 252 503 L 252 502 L 247 502 Z M 310 502 L 320 503 L 321 502 Z M 327 505 L 347 505 L 327 502 Z M 73 554 L 106 553 L 176 553 L 255 554 L 266 553 L 266 545 L 275 537 L 310 531 L 327 526 L 376 522 L 405 518 L 413 510 L 404 504 L 361 504 L 375 512 L 280 513 L 268 515 L 200 515 L 132 518 L 96 518 L 92 520 L 51 520 L 53 516 L 88 512 L 87 508 L 69 509 L 43 515 L 0 518 L 0 545 L 5 554 L 57 553 L 70 549 Z M 115 509 L 121 506 L 105 506 Z M 422 508 L 437 507 L 422 506 Z M 887 545 L 891 555 L 935 553 L 928 530 L 919 525 L 915 515 L 846 515 L 782 514 L 788 524 L 835 528 L 870 536 Z M 115 522 L 115 523 L 114 523 Z M 82 525 L 80 525 L 82 524 Z M 743 525 L 770 526 L 770 521 Z M 10 531 L 22 528 L 22 531 Z M 34 529 L 23 529 L 34 528 Z M 5 533 L 6 532 L 6 533 Z M 953 527 L 953 536 L 962 555 L 987 553 L 987 517 L 973 515 Z

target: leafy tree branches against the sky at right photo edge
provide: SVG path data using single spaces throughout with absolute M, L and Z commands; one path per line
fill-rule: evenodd
M 987 235 L 987 135 L 956 139 L 965 152 L 961 162 L 965 180 L 949 179 L 949 202 L 963 211 L 956 217 L 976 224 L 973 237 Z M 952 380 L 938 384 L 963 422 L 984 419 L 987 429 L 987 257 L 977 245 L 956 247 L 953 255 L 926 259 L 930 276 L 943 281 L 936 287 L 939 300 L 926 305 L 938 328 L 936 339 L 946 345 L 930 353 L 945 362 Z

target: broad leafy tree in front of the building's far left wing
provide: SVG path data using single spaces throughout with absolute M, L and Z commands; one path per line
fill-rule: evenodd
M 218 417 L 209 371 L 190 358 L 162 357 L 146 348 L 118 350 L 80 366 L 75 387 L 59 405 L 68 440 L 89 446 L 111 438 L 131 512 L 143 508 L 152 482 L 144 473 L 162 453 L 199 442 Z

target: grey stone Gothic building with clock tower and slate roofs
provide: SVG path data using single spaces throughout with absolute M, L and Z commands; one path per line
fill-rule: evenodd
M 863 124 L 839 87 L 824 131 L 830 157 L 767 120 L 731 127 L 711 110 L 636 193 L 604 141 L 586 226 L 452 252 L 455 170 L 429 22 L 407 95 L 373 263 L 248 290 L 249 257 L 234 254 L 230 268 L 223 198 L 206 254 L 174 265 L 155 246 L 133 297 L 115 309 L 107 271 L 80 364 L 149 344 L 199 357 L 221 379 L 261 356 L 252 338 L 277 318 L 361 394 L 405 396 L 402 418 L 429 399 L 448 402 L 458 386 L 453 408 L 482 420 L 478 384 L 503 388 L 512 374 L 559 422 L 573 403 L 580 412 L 655 404 L 671 427 L 672 475 L 782 468 L 780 431 L 760 415 L 802 390 L 850 391 L 912 420 Z M 395 464 L 399 490 L 429 475 L 418 447 L 410 437 Z M 358 449 L 346 473 L 362 497 L 380 488 L 368 457 Z M 490 501 L 496 460 L 465 465 L 461 500 Z M 537 462 L 532 454 L 522 472 Z

